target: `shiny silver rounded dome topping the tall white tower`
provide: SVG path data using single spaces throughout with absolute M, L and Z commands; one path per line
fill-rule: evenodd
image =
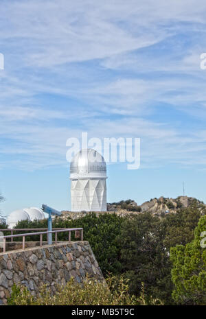
M 70 177 L 106 178 L 104 157 L 91 148 L 80 150 L 71 161 Z

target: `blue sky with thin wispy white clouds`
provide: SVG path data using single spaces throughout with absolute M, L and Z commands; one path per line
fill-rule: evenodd
M 205 0 L 1 0 L 1 212 L 71 209 L 67 139 L 141 139 L 107 201 L 206 202 Z

